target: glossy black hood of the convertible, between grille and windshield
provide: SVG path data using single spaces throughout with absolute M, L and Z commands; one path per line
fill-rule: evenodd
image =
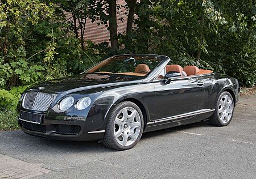
M 53 79 L 31 86 L 48 93 L 71 93 L 98 87 L 118 86 L 124 83 L 138 83 L 142 76 L 127 76 L 118 74 L 80 74 L 66 78 Z

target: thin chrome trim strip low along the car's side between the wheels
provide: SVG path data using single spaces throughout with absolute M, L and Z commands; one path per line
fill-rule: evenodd
M 179 114 L 179 115 L 176 115 L 176 116 L 166 117 L 166 118 L 162 118 L 162 119 L 155 120 L 155 121 L 152 121 L 152 122 L 147 122 L 147 125 L 152 124 L 152 123 L 158 123 L 158 122 L 176 120 L 176 119 L 183 118 L 183 117 L 196 116 L 196 115 L 198 115 L 198 114 L 204 114 L 204 113 L 213 112 L 214 110 L 215 110 L 215 109 L 201 109 L 201 110 L 196 110 L 196 111 L 189 112 L 189 113 Z

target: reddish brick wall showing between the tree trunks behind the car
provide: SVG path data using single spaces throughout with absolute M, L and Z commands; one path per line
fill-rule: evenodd
M 126 5 L 125 0 L 117 0 L 118 5 Z M 127 15 L 125 13 L 125 8 L 122 7 L 119 10 L 119 13 L 117 13 L 117 31 L 118 33 L 124 33 L 126 31 L 126 22 L 127 22 Z M 67 14 L 67 19 L 70 18 L 72 15 Z M 123 22 L 119 20 L 120 18 L 123 18 Z M 105 25 L 97 24 L 98 22 L 91 22 L 90 19 L 86 20 L 85 25 L 85 33 L 84 33 L 84 39 L 85 40 L 91 40 L 92 42 L 99 44 L 100 42 L 108 41 L 109 42 L 109 31 L 105 27 Z

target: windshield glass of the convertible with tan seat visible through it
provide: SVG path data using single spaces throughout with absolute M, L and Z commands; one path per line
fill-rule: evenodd
M 93 66 L 84 73 L 122 74 L 146 76 L 160 63 L 154 56 L 117 56 L 110 57 Z

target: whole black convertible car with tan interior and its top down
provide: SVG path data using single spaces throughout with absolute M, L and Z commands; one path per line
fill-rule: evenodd
M 235 78 L 183 69 L 166 56 L 119 55 L 79 75 L 31 86 L 20 97 L 18 122 L 30 135 L 127 150 L 148 131 L 207 118 L 228 125 L 239 91 Z

